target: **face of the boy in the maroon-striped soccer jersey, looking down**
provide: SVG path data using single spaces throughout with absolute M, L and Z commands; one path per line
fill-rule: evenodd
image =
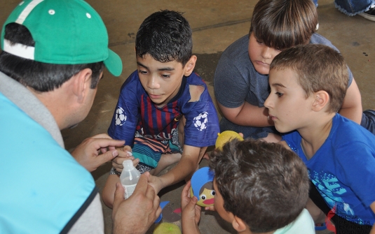
M 159 107 L 166 105 L 179 92 L 185 68 L 177 61 L 162 63 L 150 54 L 137 56 L 139 80 L 151 101 Z

